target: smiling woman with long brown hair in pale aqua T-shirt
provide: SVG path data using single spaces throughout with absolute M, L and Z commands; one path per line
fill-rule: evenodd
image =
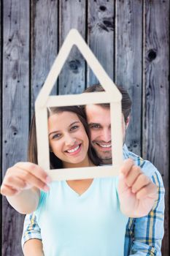
M 51 167 L 98 165 L 98 159 L 89 146 L 88 127 L 80 108 L 51 108 L 48 136 Z M 29 142 L 30 162 L 18 163 L 7 170 L 1 193 L 20 213 L 35 211 L 45 255 L 123 255 L 128 218 L 120 211 L 120 203 L 123 202 L 122 208 L 125 204 L 126 208 L 130 207 L 133 214 L 142 212 L 139 193 L 144 184 L 149 183 L 148 179 L 143 184 L 136 183 L 139 173 L 137 169 L 131 172 L 133 164 L 130 160 L 126 168 L 122 168 L 124 177 L 119 181 L 120 198 L 115 177 L 50 182 L 50 177 L 36 165 L 34 120 Z M 137 193 L 128 192 L 128 197 L 127 193 L 123 197 L 128 191 L 125 178 L 133 179 L 134 173 L 133 186 L 138 188 Z M 151 190 L 150 208 L 155 200 L 155 187 Z

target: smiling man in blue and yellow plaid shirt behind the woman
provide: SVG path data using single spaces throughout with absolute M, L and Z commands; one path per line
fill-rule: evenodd
M 118 87 L 118 89 L 123 95 L 122 112 L 124 143 L 125 130 L 128 127 L 129 114 L 131 112 L 131 99 L 125 89 L 121 87 Z M 93 91 L 104 90 L 101 86 L 94 85 L 88 88 L 85 92 Z M 85 113 L 90 128 L 91 145 L 101 159 L 101 165 L 110 165 L 112 163 L 112 145 L 109 105 L 86 105 Z M 155 202 L 150 214 L 148 214 L 147 217 L 128 219 L 125 233 L 124 255 L 161 255 L 164 211 L 164 188 L 161 175 L 150 162 L 144 161 L 142 158 L 129 152 L 125 144 L 123 145 L 123 157 L 124 159 L 133 159 L 135 165 L 141 167 L 142 171 L 152 178 L 152 181 L 158 187 L 158 200 Z M 26 230 L 25 233 L 23 233 L 23 244 L 25 243 L 23 251 L 25 255 L 40 256 L 40 253 L 42 252 L 41 233 L 34 214 L 29 215 L 26 218 L 24 230 Z M 32 252 L 31 249 L 33 249 Z M 37 254 L 37 252 L 39 252 L 39 254 Z

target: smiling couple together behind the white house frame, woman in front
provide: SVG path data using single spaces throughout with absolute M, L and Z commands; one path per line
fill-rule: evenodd
M 123 94 L 125 139 L 131 101 L 124 89 L 118 89 Z M 91 86 L 88 91 L 102 88 Z M 78 107 L 51 108 L 48 127 L 52 167 L 111 164 L 108 105 L 85 106 L 85 113 Z M 34 121 L 29 142 L 29 161 L 36 164 Z M 41 241 L 31 238 L 42 238 L 44 253 L 50 256 L 120 256 L 123 251 L 124 255 L 161 255 L 164 207 L 161 175 L 150 162 L 129 152 L 125 144 L 123 154 L 126 160 L 119 179 L 50 183 L 45 171 L 30 162 L 18 163 L 7 170 L 1 193 L 20 213 L 35 211 L 26 217 L 29 223 L 25 223 L 23 233 L 25 255 L 43 255 Z

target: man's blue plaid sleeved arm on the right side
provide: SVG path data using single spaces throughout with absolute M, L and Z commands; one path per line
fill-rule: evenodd
M 158 187 L 158 200 L 155 201 L 155 205 L 146 217 L 134 219 L 134 225 L 131 224 L 132 219 L 129 219 L 125 237 L 125 255 L 161 256 L 165 190 L 158 171 L 152 175 L 152 181 Z M 133 241 L 128 241 L 130 237 Z

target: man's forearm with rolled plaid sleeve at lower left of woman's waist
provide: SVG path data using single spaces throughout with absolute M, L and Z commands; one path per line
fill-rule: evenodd
M 41 230 L 36 222 L 34 213 L 26 215 L 23 226 L 22 247 L 24 256 L 44 256 Z

